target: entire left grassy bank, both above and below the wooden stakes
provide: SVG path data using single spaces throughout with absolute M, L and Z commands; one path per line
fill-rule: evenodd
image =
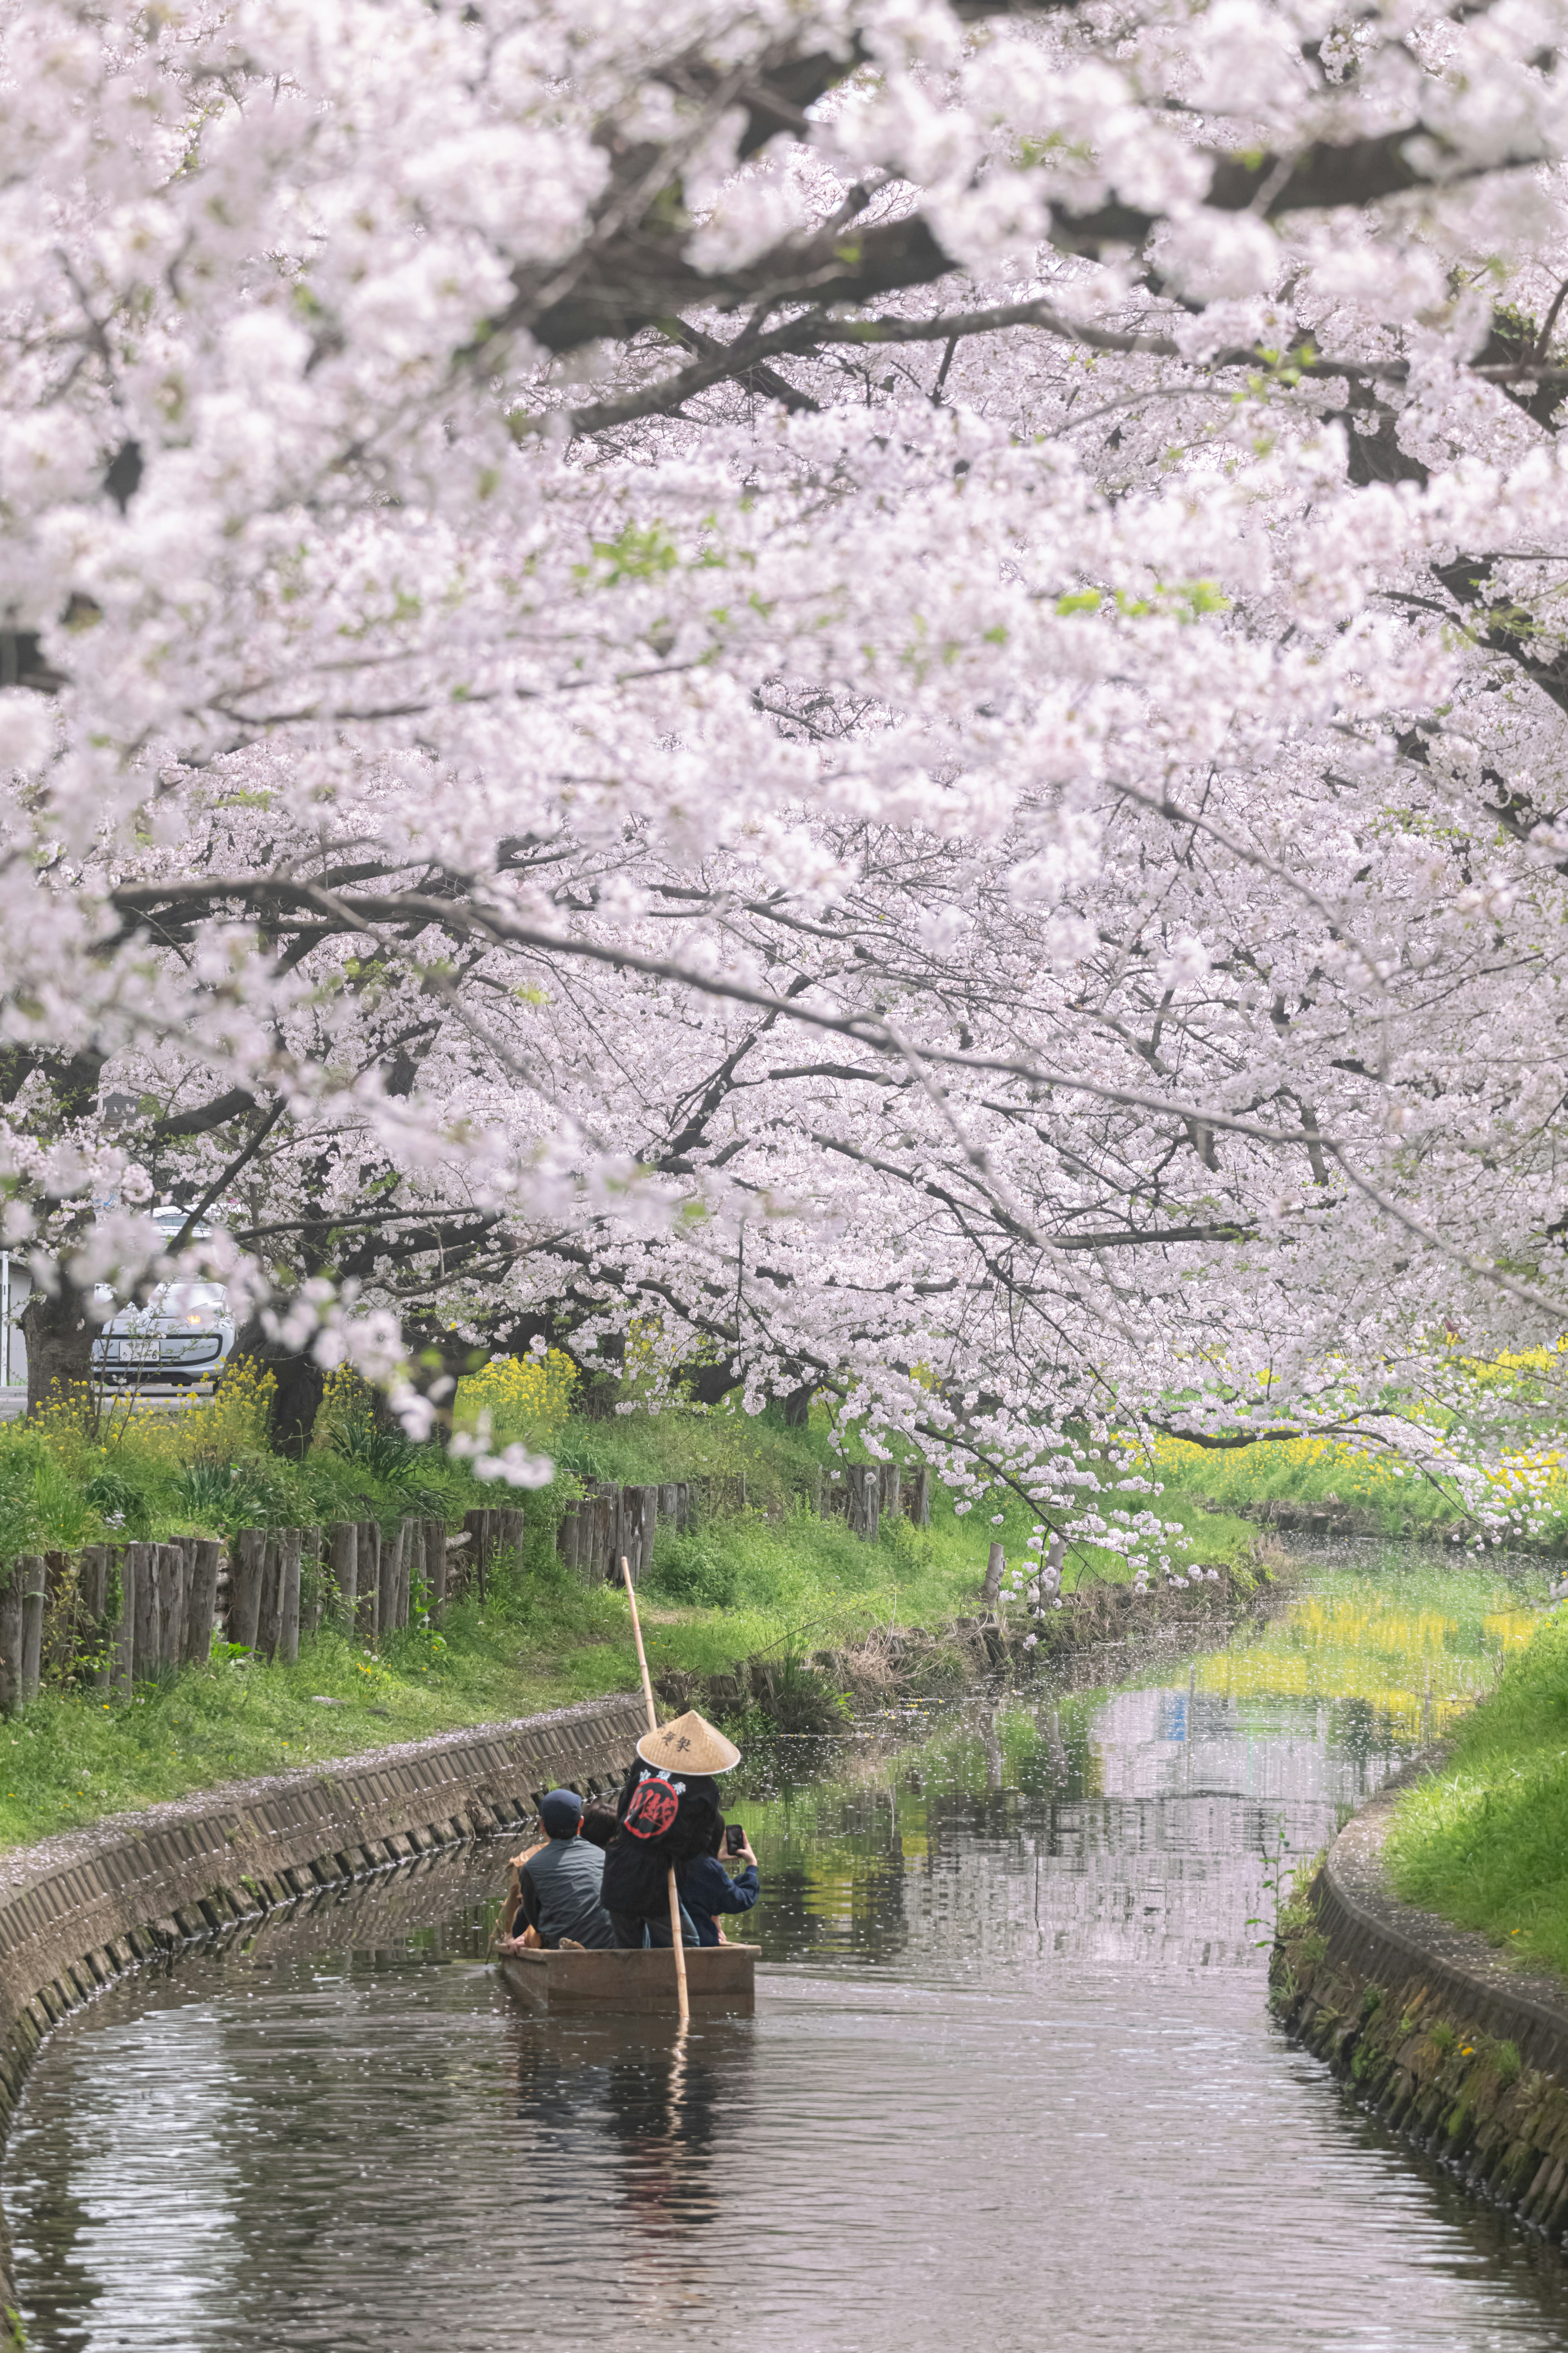
M 19 1551 L 66 1551 L 115 1539 L 233 1537 L 240 1527 L 299 1527 L 404 1513 L 449 1525 L 505 1489 L 475 1478 L 444 1445 L 407 1445 L 378 1426 L 369 1398 L 334 1384 L 303 1459 L 268 1445 L 268 1384 L 235 1372 L 183 1414 L 78 1400 L 42 1426 L 0 1428 L 0 1565 Z M 931 1527 L 884 1522 L 879 1541 L 809 1499 L 865 1459 L 825 1417 L 785 1428 L 741 1412 L 574 1414 L 562 1360 L 491 1365 L 463 1384 L 458 1426 L 491 1449 L 512 1440 L 550 1454 L 548 1487 L 524 1504 L 522 1555 L 503 1565 L 487 1602 L 458 1602 L 444 1626 L 378 1645 L 324 1633 L 296 1666 L 233 1657 L 223 1645 L 195 1668 L 132 1699 L 106 1701 L 68 1675 L 47 1680 L 16 1720 L 0 1720 L 0 1845 L 19 1845 L 127 1807 L 226 1779 L 350 1755 L 489 1718 L 637 1687 L 625 1600 L 562 1569 L 555 1532 L 588 1480 L 733 1480 L 748 1508 L 661 1525 L 642 1595 L 654 1673 L 724 1675 L 738 1659 L 804 1659 L 849 1647 L 877 1626 L 943 1626 L 973 1612 L 985 1555 L 1001 1539 L 1025 1558 L 1030 1515 L 1011 1504 L 959 1513 L 940 1487 Z M 1213 1520 L 1190 1501 L 1197 1560 L 1239 1560 L 1255 1529 Z M 1124 1577 L 1114 1553 L 1070 1558 L 1065 1584 Z

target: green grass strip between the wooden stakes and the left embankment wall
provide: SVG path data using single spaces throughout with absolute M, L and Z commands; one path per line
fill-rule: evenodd
M 656 1673 L 724 1673 L 750 1652 L 818 1649 L 891 1617 L 940 1624 L 976 1605 L 980 1567 L 983 1546 L 952 1513 L 933 1532 L 893 1522 L 877 1544 L 802 1511 L 778 1522 L 710 1520 L 684 1537 L 663 1527 L 642 1598 L 649 1659 Z M 693 1577 L 722 1579 L 731 1600 L 677 1598 Z M 564 1569 L 541 1515 L 522 1560 L 494 1572 L 484 1605 L 454 1605 L 440 1640 L 409 1631 L 371 1652 L 322 1633 L 301 1645 L 296 1666 L 214 1657 L 129 1701 L 45 1687 L 26 1715 L 0 1720 L 0 1845 L 249 1774 L 635 1689 L 625 1598 Z

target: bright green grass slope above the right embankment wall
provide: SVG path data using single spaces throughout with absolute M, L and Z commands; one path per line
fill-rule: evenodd
M 1568 1614 L 1556 1609 L 1448 1762 L 1401 1802 L 1387 1842 L 1408 1904 L 1568 1974 Z

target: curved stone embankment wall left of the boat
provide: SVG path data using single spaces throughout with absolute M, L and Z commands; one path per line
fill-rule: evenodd
M 614 1784 L 644 1729 L 642 1699 L 597 1699 L 230 1784 L 0 1857 L 0 2125 L 49 2028 L 127 1969 L 515 1831 L 545 1788 Z M 21 2344 L 9 2261 L 0 2301 Z

